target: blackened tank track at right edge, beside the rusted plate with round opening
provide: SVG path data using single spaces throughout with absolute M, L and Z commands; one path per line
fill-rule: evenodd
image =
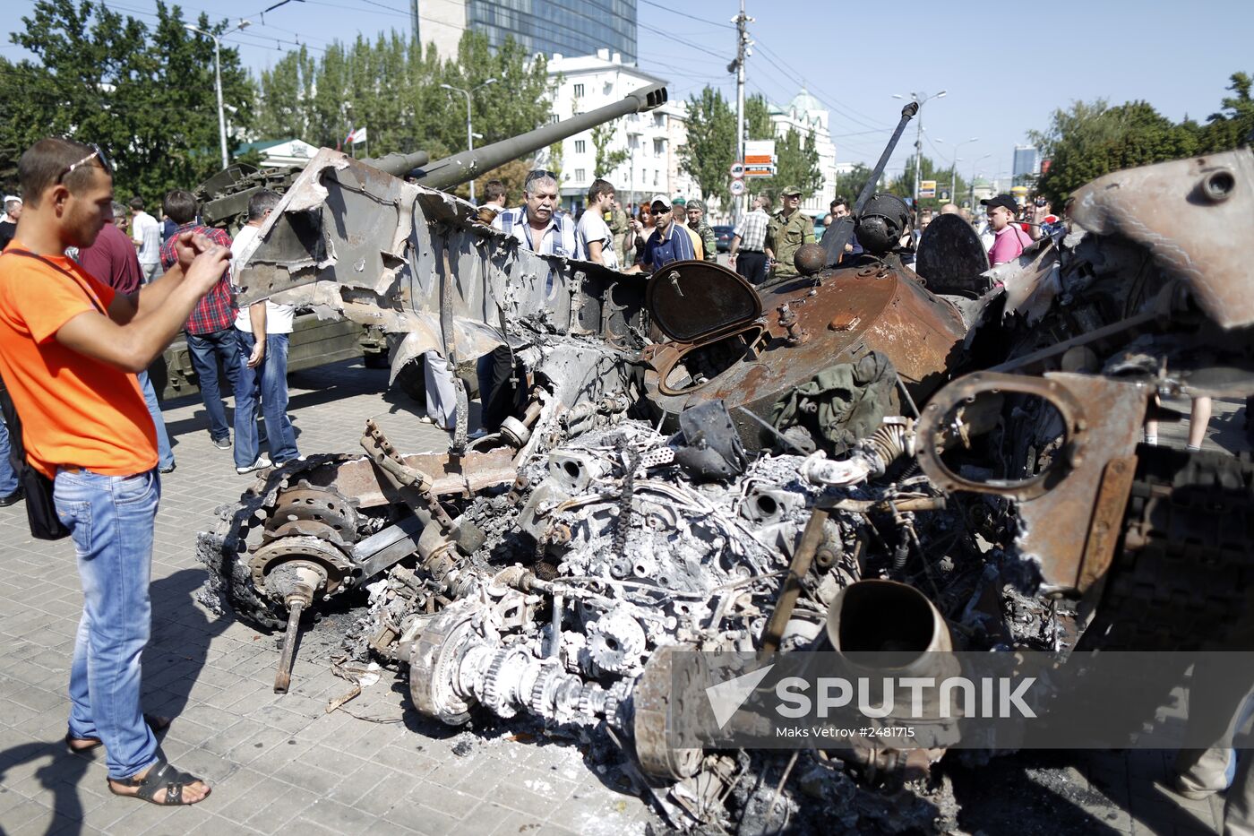
M 1119 551 L 1076 649 L 1162 655 L 1117 683 L 1083 675 L 1088 658 L 1072 658 L 1057 692 L 1116 748 L 1176 702 L 1189 682 L 1184 651 L 1254 649 L 1254 462 L 1145 444 L 1136 454 Z

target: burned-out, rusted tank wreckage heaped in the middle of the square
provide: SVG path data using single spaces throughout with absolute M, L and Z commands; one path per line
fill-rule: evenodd
M 1223 646 L 1246 618 L 1251 468 L 1137 441 L 1170 418 L 1157 392 L 1254 390 L 1244 254 L 1208 237 L 1249 217 L 1251 183 L 1248 149 L 1111 174 L 1066 237 L 948 294 L 898 260 L 900 207 L 872 183 L 859 240 L 883 246 L 836 264 L 833 227 L 803 277 L 752 287 L 537 256 L 324 149 L 240 254 L 245 300 L 381 325 L 394 374 L 508 346 L 528 399 L 472 441 L 458 380 L 446 452 L 367 423 L 364 452 L 263 473 L 201 539 L 211 591 L 286 623 L 278 689 L 302 613 L 355 595 L 349 639 L 419 712 L 601 729 L 675 826 L 734 808 L 804 827 L 800 787 L 829 830 L 833 806 L 849 830 L 952 828 L 943 780 L 884 790 L 943 748 L 806 756 L 779 810 L 786 758 L 672 748 L 672 651 L 840 649 L 903 623 L 918 651 Z M 1224 616 L 1203 626 L 1200 598 Z

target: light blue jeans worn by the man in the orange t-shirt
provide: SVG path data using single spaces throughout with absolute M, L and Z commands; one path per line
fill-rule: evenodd
M 74 539 L 83 582 L 69 731 L 102 741 L 109 777 L 129 778 L 157 761 L 157 738 L 139 708 L 139 655 L 152 623 L 148 581 L 161 477 L 61 469 L 53 500 Z

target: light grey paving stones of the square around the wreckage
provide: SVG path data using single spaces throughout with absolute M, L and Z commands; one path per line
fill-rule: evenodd
M 443 448 L 444 434 L 418 423 L 409 399 L 385 394 L 386 378 L 360 363 L 293 374 L 301 451 L 355 449 L 367 417 L 405 449 Z M 163 478 L 157 520 L 144 704 L 176 717 L 164 754 L 208 780 L 213 795 L 188 808 L 115 798 L 99 756 L 65 752 L 79 580 L 73 547 L 33 540 L 19 505 L 0 508 L 0 832 L 618 836 L 656 822 L 614 785 L 613 771 L 598 769 L 576 744 L 426 723 L 386 670 L 327 714 L 327 702 L 350 688 L 331 673 L 327 644 L 308 641 L 291 693 L 273 694 L 273 636 L 192 599 L 204 580 L 197 532 L 253 478 L 237 476 L 231 451 L 209 443 L 198 398 L 169 404 L 166 417 L 178 469 Z M 1230 410 L 1216 409 L 1220 427 L 1230 419 Z M 1078 766 L 1063 768 L 1086 790 L 1076 812 L 1095 830 L 1213 831 L 1220 800 L 1189 802 L 1164 790 L 1164 757 L 1077 756 Z

